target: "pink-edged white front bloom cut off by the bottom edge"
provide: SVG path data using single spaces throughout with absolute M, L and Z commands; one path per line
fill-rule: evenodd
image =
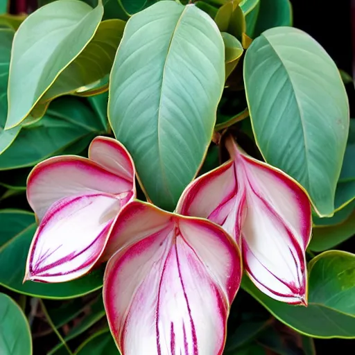
M 127 219 L 116 221 L 114 237 L 130 240 L 107 263 L 104 277 L 107 319 L 121 354 L 222 354 L 241 282 L 236 244 L 207 220 L 143 203 L 136 214 L 134 204 L 125 207 Z M 161 227 L 146 230 L 142 211 Z

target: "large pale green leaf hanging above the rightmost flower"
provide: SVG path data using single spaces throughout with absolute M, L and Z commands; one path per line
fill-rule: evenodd
M 266 162 L 300 182 L 320 216 L 331 216 L 349 131 L 336 64 L 306 33 L 272 28 L 249 47 L 244 80 Z

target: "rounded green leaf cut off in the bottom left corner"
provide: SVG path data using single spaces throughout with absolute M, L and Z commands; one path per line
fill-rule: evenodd
M 32 355 L 31 330 L 14 300 L 0 293 L 0 354 Z

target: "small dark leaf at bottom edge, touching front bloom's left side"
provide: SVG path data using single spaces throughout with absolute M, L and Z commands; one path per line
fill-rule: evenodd
M 119 350 L 109 329 L 99 331 L 88 338 L 75 352 L 75 355 L 119 355 Z

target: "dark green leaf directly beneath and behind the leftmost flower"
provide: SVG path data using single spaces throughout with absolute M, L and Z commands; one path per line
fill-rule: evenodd
M 35 216 L 26 211 L 0 210 L 0 285 L 10 290 L 42 298 L 73 298 L 98 290 L 103 284 L 103 268 L 71 282 L 42 284 L 25 282 L 28 250 L 36 230 Z

